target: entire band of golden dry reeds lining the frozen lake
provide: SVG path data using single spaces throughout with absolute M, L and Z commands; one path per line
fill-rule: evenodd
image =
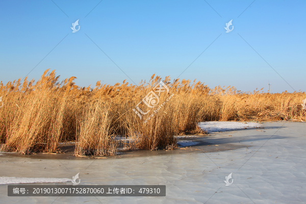
M 301 106 L 305 92 L 242 93 L 234 87 L 210 89 L 201 82 L 170 82 L 155 75 L 138 86 L 97 82 L 90 88 L 75 85 L 75 77 L 59 83 L 55 70 L 48 71 L 37 83 L 27 78 L 22 84 L 20 79 L 0 83 L 1 150 L 50 153 L 59 150 L 60 142 L 75 141 L 75 155 L 111 156 L 119 145 L 116 135 L 132 138 L 124 143 L 128 148 L 172 149 L 174 136 L 200 132 L 200 121 L 306 121 Z M 161 81 L 169 92 L 159 96 L 154 108 L 141 103 L 139 108 L 149 113 L 140 119 L 132 109 Z

